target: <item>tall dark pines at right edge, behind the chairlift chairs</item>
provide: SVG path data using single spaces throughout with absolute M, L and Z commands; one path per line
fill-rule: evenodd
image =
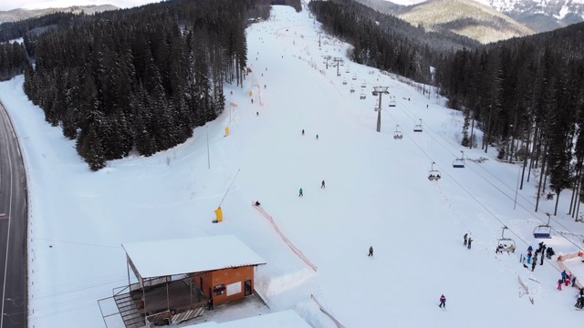
M 487 136 L 483 147 L 494 144 L 499 159 L 543 168 L 539 194 L 552 199 L 567 188 L 580 190 L 584 24 L 461 50 L 436 72 L 450 106 L 464 111 L 464 146 L 472 146 L 468 133 L 476 121 Z

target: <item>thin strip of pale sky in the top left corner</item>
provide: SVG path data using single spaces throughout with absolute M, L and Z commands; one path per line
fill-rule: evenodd
M 116 5 L 120 8 L 129 8 L 137 5 L 146 5 L 161 0 L 0 0 L 0 10 L 12 10 L 16 8 L 39 9 L 59 8 L 71 5 Z

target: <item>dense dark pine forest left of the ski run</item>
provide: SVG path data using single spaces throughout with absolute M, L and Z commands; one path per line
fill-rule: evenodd
M 91 169 L 169 149 L 223 111 L 224 83 L 245 78 L 252 10 L 262 15 L 253 0 L 199 0 L 73 16 L 26 40 L 26 95 Z

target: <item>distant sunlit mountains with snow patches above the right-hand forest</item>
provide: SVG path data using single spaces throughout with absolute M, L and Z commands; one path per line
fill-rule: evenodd
M 447 29 L 482 43 L 584 21 L 584 0 L 356 0 L 428 30 Z

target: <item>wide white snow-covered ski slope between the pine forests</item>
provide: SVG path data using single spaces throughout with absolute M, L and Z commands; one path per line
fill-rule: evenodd
M 495 161 L 495 152 L 461 148 L 463 118 L 443 108 L 443 98 L 349 62 L 348 46 L 324 33 L 319 48 L 318 32 L 307 11 L 274 6 L 268 21 L 247 30 L 253 74 L 243 88 L 226 86 L 232 106 L 220 118 L 174 149 L 115 160 L 95 173 L 78 158 L 74 142 L 26 100 L 22 77 L 0 84 L 29 175 L 30 326 L 102 327 L 96 301 L 127 282 L 122 242 L 221 234 L 234 234 L 266 260 L 255 287 L 269 311 L 295 310 L 314 327 L 336 325 L 311 295 L 345 327 L 581 323 L 576 290 L 556 291 L 555 261 L 535 272 L 519 263 L 520 252 L 537 246 L 531 234 L 547 220 L 543 212 L 553 211 L 554 201 L 543 200 L 533 212 L 537 174 L 519 190 L 514 210 L 519 166 Z M 345 59 L 341 77 L 322 56 Z M 367 98 L 361 100 L 363 80 Z M 381 133 L 375 131 L 374 86 L 390 87 Z M 388 107 L 389 96 L 396 107 Z M 423 132 L 414 133 L 420 118 Z M 393 138 L 398 124 L 401 140 Z M 454 169 L 460 150 L 466 168 Z M 433 161 L 439 181 L 427 179 Z M 557 253 L 582 247 L 582 226 L 566 214 L 569 195 L 565 191 L 553 218 L 561 226 L 554 220 L 552 226 L 580 234 L 554 232 L 546 242 Z M 224 221 L 214 224 L 223 198 Z M 506 237 L 516 241 L 514 255 L 495 255 L 504 225 Z M 466 232 L 472 250 L 463 247 Z M 367 256 L 370 246 L 374 258 Z M 200 251 L 184 251 L 185 260 L 196 261 Z M 584 278 L 584 263 L 567 264 Z M 522 295 L 518 276 L 530 295 Z M 441 294 L 447 312 L 436 306 Z

